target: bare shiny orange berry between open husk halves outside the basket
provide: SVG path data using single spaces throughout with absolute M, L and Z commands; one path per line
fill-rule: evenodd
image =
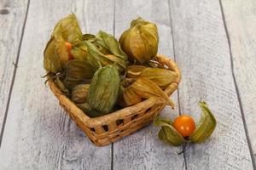
M 177 116 L 173 122 L 173 127 L 183 137 L 189 137 L 195 131 L 195 121 L 191 116 Z

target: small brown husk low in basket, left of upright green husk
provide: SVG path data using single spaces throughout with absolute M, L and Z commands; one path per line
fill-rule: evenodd
M 83 104 L 86 100 L 90 84 L 79 84 L 72 90 L 71 100 L 76 104 Z

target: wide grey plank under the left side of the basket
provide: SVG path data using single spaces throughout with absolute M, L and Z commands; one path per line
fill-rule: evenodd
M 113 32 L 113 1 L 31 1 L 0 151 L 1 169 L 111 168 L 111 146 L 92 144 L 40 77 L 50 32 L 72 11 L 84 31 Z

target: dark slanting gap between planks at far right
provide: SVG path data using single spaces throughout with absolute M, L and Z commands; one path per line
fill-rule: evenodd
M 224 30 L 225 30 L 227 40 L 228 40 L 228 43 L 229 43 L 231 73 L 232 73 L 233 81 L 234 81 L 235 88 L 236 88 L 236 96 L 237 96 L 237 99 L 238 99 L 239 108 L 240 108 L 240 112 L 241 112 L 241 119 L 242 119 L 242 122 L 243 122 L 243 127 L 244 127 L 244 130 L 245 130 L 245 134 L 246 134 L 246 137 L 247 137 L 247 145 L 248 145 L 248 148 L 250 150 L 250 156 L 251 156 L 252 163 L 253 163 L 253 169 L 256 169 L 256 164 L 255 164 L 255 160 L 254 160 L 254 157 L 253 157 L 253 148 L 252 148 L 251 140 L 248 136 L 247 122 L 246 122 L 246 119 L 245 119 L 245 116 L 244 116 L 244 110 L 243 110 L 243 107 L 242 107 L 242 104 L 241 104 L 240 92 L 239 92 L 239 88 L 237 86 L 236 76 L 235 76 L 235 73 L 234 73 L 234 61 L 233 61 L 233 54 L 232 54 L 232 50 L 231 50 L 230 35 L 229 35 L 229 31 L 228 31 L 228 28 L 227 28 L 227 25 L 226 25 L 222 0 L 219 0 L 219 6 L 220 6 L 220 9 L 221 9 L 222 20 L 223 20 L 223 23 L 224 23 Z

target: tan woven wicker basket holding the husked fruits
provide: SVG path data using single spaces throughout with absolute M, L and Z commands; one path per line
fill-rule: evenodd
M 155 60 L 178 74 L 177 80 L 165 89 L 166 94 L 170 96 L 177 89 L 178 82 L 180 82 L 180 71 L 176 63 L 164 55 L 157 55 Z M 59 99 L 60 105 L 97 146 L 113 143 L 150 124 L 154 117 L 165 107 L 157 99 L 150 98 L 108 115 L 90 118 L 61 93 L 55 82 L 49 80 L 48 84 L 52 93 Z

